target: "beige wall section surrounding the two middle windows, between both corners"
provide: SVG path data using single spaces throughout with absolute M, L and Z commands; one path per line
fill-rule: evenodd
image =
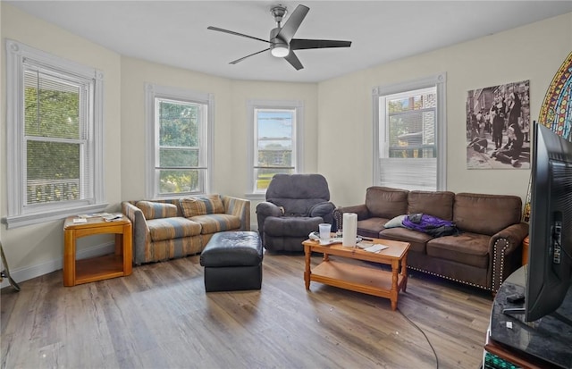
M 248 184 L 247 103 L 255 100 L 304 102 L 305 162 L 317 170 L 315 83 L 228 80 L 122 57 L 122 198 L 145 198 L 145 83 L 214 94 L 212 192 L 244 197 Z M 254 212 L 254 204 L 252 206 Z M 253 213 L 254 216 L 254 213 Z M 254 218 L 253 218 L 254 219 Z

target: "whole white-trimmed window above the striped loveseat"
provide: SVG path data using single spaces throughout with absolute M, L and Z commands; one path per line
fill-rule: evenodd
M 147 84 L 147 196 L 209 192 L 213 96 Z

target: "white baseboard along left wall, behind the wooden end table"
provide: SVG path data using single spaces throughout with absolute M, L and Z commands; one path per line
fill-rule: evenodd
M 111 254 L 115 250 L 115 244 L 113 242 L 106 243 L 103 245 L 98 245 L 95 247 L 89 247 L 85 250 L 81 250 L 77 254 L 78 259 L 85 259 L 88 257 L 102 256 L 106 254 Z M 10 275 L 16 283 L 21 281 L 28 281 L 32 278 L 39 277 L 47 273 L 52 273 L 63 268 L 63 256 L 61 258 L 50 260 L 41 264 L 27 266 L 20 269 L 11 269 Z M 62 281 L 63 283 L 63 281 Z M 10 283 L 6 278 L 0 283 L 0 289 L 10 286 Z

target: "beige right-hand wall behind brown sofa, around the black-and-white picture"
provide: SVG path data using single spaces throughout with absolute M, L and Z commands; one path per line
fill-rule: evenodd
M 570 51 L 572 13 L 319 83 L 318 169 L 331 183 L 334 202 L 363 203 L 364 189 L 372 185 L 372 88 L 442 71 L 447 73 L 447 189 L 525 198 L 529 170 L 467 170 L 467 91 L 530 80 L 531 119 L 537 120 Z M 332 155 L 333 147 L 340 155 Z

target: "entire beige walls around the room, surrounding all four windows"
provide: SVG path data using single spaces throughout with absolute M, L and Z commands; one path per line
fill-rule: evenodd
M 110 210 L 122 200 L 145 197 L 146 82 L 214 94 L 213 192 L 244 197 L 247 191 L 247 102 L 301 100 L 305 104 L 306 172 L 322 172 L 336 205 L 362 202 L 372 184 L 372 97 L 374 86 L 446 71 L 448 188 L 453 191 L 516 194 L 524 197 L 529 171 L 468 171 L 465 163 L 467 90 L 530 80 L 532 117 L 537 117 L 551 79 L 572 50 L 572 13 L 473 42 L 416 55 L 315 83 L 228 80 L 117 55 L 83 38 L 0 3 L 2 88 L 5 96 L 4 38 L 98 68 L 105 73 L 105 197 Z M 5 112 L 5 99 L 1 99 Z M 5 113 L 0 118 L 0 216 L 6 215 Z M 318 135 L 319 132 L 319 135 Z M 252 203 L 253 222 L 256 222 Z M 0 239 L 15 279 L 61 268 L 63 222 L 14 230 Z M 86 242 L 97 248 L 106 239 Z

